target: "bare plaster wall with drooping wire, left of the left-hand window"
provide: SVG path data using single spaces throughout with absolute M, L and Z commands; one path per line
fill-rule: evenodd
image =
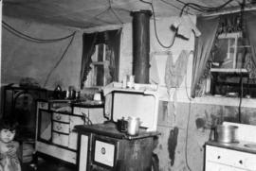
M 3 21 L 30 37 L 42 40 L 63 38 L 75 31 L 8 17 L 3 17 Z M 17 37 L 5 27 L 2 29 L 1 85 L 19 84 L 21 78 L 31 77 L 41 87 L 50 90 L 53 90 L 58 84 L 63 88 L 71 85 L 79 88 L 82 32 L 76 32 L 73 42 L 63 57 L 65 48 L 72 39 L 71 37 L 53 43 L 34 43 Z M 59 64 L 57 64 L 58 62 Z

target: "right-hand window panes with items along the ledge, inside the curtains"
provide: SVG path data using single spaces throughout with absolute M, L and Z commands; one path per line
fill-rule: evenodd
M 250 46 L 242 32 L 218 35 L 211 54 L 210 93 L 226 96 L 254 95 L 255 84 L 250 83 L 247 63 Z

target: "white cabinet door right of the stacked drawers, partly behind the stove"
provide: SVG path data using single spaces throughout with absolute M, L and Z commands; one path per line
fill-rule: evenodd
M 77 149 L 78 143 L 78 133 L 74 131 L 76 125 L 83 125 L 84 121 L 80 116 L 70 116 L 70 133 L 69 133 L 69 143 L 68 147 L 72 149 Z

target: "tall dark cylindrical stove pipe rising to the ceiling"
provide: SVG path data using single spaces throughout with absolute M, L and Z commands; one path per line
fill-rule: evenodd
M 151 10 L 131 12 L 133 16 L 133 75 L 136 83 L 149 83 Z

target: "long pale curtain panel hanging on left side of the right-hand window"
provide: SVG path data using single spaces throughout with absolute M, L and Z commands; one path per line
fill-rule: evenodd
M 195 40 L 194 60 L 192 63 L 192 97 L 195 97 L 197 84 L 200 77 L 204 74 L 207 61 L 209 60 L 218 24 L 219 16 L 199 17 L 197 19 L 196 26 L 202 34 Z

